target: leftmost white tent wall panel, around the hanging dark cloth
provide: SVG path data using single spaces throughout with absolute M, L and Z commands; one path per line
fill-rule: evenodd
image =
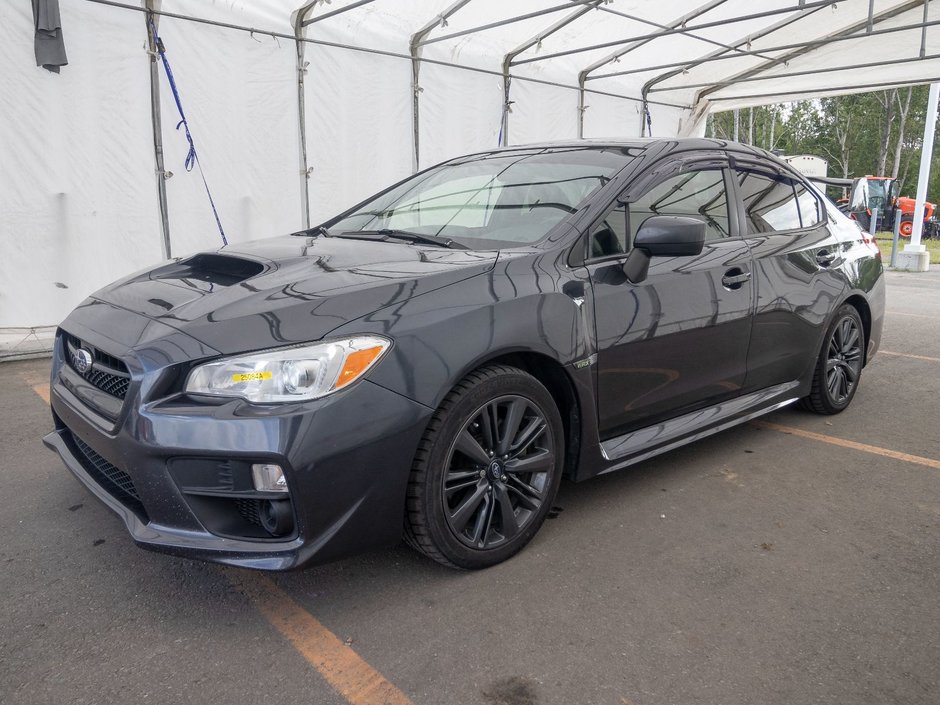
M 61 12 L 69 65 L 52 74 L 35 67 L 30 3 L 0 11 L 0 352 L 29 338 L 11 328 L 52 326 L 161 257 L 142 17 Z

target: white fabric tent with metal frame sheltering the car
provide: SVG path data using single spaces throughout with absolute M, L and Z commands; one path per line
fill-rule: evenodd
M 183 166 L 151 18 L 232 242 L 319 222 L 461 153 L 696 135 L 711 110 L 940 80 L 940 17 L 924 0 L 61 0 L 61 12 L 69 65 L 51 74 L 35 67 L 30 2 L 0 6 L 0 355 L 41 344 L 167 244 L 173 256 L 221 244 L 199 170 Z

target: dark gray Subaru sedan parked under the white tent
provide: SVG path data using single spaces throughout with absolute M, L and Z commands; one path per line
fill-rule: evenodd
M 842 411 L 883 316 L 877 247 L 766 152 L 513 147 L 94 294 L 45 441 L 145 548 L 287 569 L 404 534 L 482 568 L 563 476 Z

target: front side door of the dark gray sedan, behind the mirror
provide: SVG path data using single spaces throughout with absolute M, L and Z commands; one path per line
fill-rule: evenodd
M 750 254 L 729 208 L 722 157 L 675 162 L 642 177 L 591 231 L 600 434 L 611 438 L 723 399 L 744 383 L 753 307 Z M 706 223 L 702 253 L 656 257 L 627 281 L 623 263 L 643 221 Z

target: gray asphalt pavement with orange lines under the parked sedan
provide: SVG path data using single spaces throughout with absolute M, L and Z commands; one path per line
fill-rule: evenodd
M 940 272 L 889 273 L 848 411 L 562 486 L 530 546 L 303 572 L 136 548 L 0 365 L 0 703 L 940 702 Z

